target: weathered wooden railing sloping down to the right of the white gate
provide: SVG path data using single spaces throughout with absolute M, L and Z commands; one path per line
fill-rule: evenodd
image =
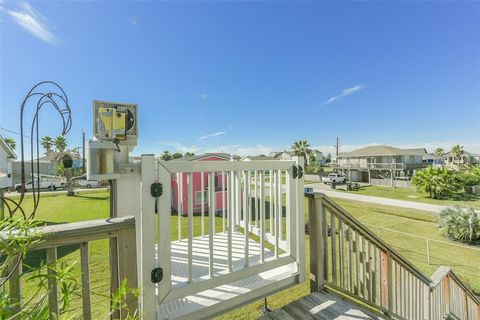
M 307 194 L 310 288 L 332 288 L 400 319 L 480 320 L 480 300 L 448 268 L 431 278 L 323 194 Z

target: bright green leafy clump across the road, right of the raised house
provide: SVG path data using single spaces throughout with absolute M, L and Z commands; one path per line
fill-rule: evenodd
M 417 171 L 412 178 L 412 184 L 433 199 L 449 198 L 463 187 L 458 173 L 447 168 L 434 167 Z

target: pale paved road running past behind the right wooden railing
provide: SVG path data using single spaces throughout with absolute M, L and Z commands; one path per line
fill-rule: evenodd
M 341 199 L 348 199 L 354 201 L 363 201 L 363 202 L 370 202 L 375 204 L 382 204 L 386 206 L 394 206 L 394 207 L 401 207 L 401 208 L 409 208 L 409 209 L 416 209 L 416 210 L 424 210 L 438 213 L 446 208 L 446 206 L 439 206 L 436 204 L 429 204 L 429 203 L 421 203 L 421 202 L 414 202 L 414 201 L 405 201 L 405 200 L 396 200 L 396 199 L 389 199 L 389 198 L 382 198 L 382 197 L 374 197 L 374 196 L 365 196 L 361 194 L 355 193 L 347 193 L 342 191 L 334 191 L 330 189 L 330 186 L 325 185 L 323 183 L 312 183 L 306 185 L 308 187 L 312 187 L 313 191 L 315 192 L 322 192 L 329 197 L 334 198 L 341 198 Z

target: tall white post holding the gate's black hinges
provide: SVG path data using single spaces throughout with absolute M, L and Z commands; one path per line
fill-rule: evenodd
M 141 227 L 140 262 L 141 274 L 141 312 L 143 319 L 156 318 L 155 284 L 151 281 L 151 272 L 155 268 L 155 198 L 151 195 L 151 185 L 156 182 L 155 156 L 153 154 L 142 155 L 141 165 Z M 138 239 L 138 236 L 137 236 Z

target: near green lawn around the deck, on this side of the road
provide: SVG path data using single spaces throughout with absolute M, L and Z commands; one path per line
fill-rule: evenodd
M 411 209 L 393 208 L 389 206 L 380 206 L 362 202 L 352 202 L 342 199 L 335 199 L 348 212 L 354 215 L 363 223 L 374 224 L 385 228 L 390 228 L 402 232 L 416 234 L 418 236 L 429 237 L 449 242 L 437 228 L 435 218 L 428 212 L 416 211 Z M 27 199 L 28 202 L 28 199 Z M 29 205 L 29 204 L 28 204 Z M 26 208 L 28 208 L 26 204 Z M 308 206 L 305 206 L 308 208 Z M 81 193 L 76 197 L 66 197 L 62 195 L 42 197 L 40 207 L 36 218 L 48 223 L 63 223 L 80 220 L 99 219 L 108 217 L 109 198 L 108 192 Z M 308 217 L 308 213 L 306 213 Z M 186 219 L 182 219 L 182 235 L 186 235 Z M 172 238 L 177 239 L 177 217 L 172 216 Z M 206 219 L 206 230 L 208 230 L 208 220 Z M 220 231 L 221 219 L 216 218 L 216 230 Z M 195 235 L 199 235 L 201 219 L 194 217 Z M 268 225 L 268 223 L 267 223 Z M 374 229 L 374 231 L 376 231 Z M 440 244 L 430 244 L 432 264 L 428 265 L 425 257 L 425 243 L 421 239 L 399 236 L 398 234 L 382 232 L 382 238 L 391 244 L 397 251 L 403 254 L 407 259 L 413 262 L 426 274 L 431 275 L 440 265 L 452 267 L 457 274 L 466 280 L 470 286 L 478 293 L 480 292 L 480 254 L 478 251 L 464 248 L 449 247 Z M 307 249 L 307 264 L 309 261 L 309 239 L 305 239 Z M 44 252 L 34 252 L 29 254 L 26 263 L 38 265 L 44 260 Z M 68 246 L 59 250 L 61 261 L 72 263 L 79 261 L 78 246 Z M 103 319 L 107 316 L 108 295 L 109 295 L 109 261 L 108 261 L 108 241 L 95 241 L 90 245 L 91 258 L 91 280 L 92 294 L 94 299 L 93 318 Z M 308 271 L 308 265 L 306 266 Z M 75 269 L 76 276 L 80 275 L 79 266 Z M 307 277 L 308 278 L 308 277 Z M 25 285 L 25 294 L 31 295 L 35 290 L 35 283 Z M 308 283 L 305 282 L 287 291 L 268 298 L 268 304 L 271 308 L 278 308 L 288 302 L 298 299 L 308 294 Z M 263 301 L 257 301 L 248 306 L 239 308 L 220 317 L 220 319 L 256 319 L 258 318 L 259 308 Z M 71 308 L 73 313 L 81 312 L 80 299 L 76 299 Z

